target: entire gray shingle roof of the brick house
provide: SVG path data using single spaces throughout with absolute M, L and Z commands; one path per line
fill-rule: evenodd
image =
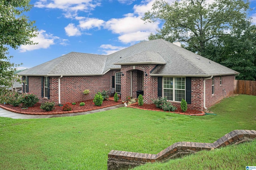
M 140 42 L 110 55 L 71 52 L 20 75 L 102 75 L 122 64 L 156 63 L 150 75 L 203 76 L 238 72 L 162 39 Z M 119 65 L 116 65 L 119 64 Z

